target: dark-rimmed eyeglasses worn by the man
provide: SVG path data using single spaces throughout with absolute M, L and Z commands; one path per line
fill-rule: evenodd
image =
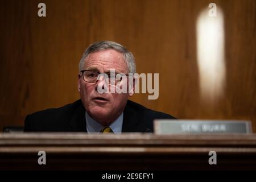
M 95 72 L 90 70 L 82 70 L 81 73 L 84 81 L 90 82 L 90 83 L 97 82 L 100 76 L 102 75 L 104 76 L 106 83 L 109 85 L 117 85 L 119 84 L 119 82 L 122 81 L 123 76 L 129 76 L 124 73 L 115 73 L 115 72 L 113 72 L 114 73 L 114 76 L 113 76 L 113 73 L 111 74 L 110 72 L 100 73 L 100 72 Z

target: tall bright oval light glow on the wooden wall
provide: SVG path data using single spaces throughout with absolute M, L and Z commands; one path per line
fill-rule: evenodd
M 208 10 L 197 18 L 197 64 L 199 68 L 200 92 L 203 101 L 218 101 L 224 94 L 226 80 L 224 55 L 224 16 L 217 9 L 216 16 Z

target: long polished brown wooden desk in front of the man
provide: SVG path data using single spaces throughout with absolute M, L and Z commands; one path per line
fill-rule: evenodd
M 38 151 L 46 151 L 46 165 Z M 209 165 L 209 151 L 217 165 Z M 0 134 L 0 169 L 256 169 L 256 135 Z

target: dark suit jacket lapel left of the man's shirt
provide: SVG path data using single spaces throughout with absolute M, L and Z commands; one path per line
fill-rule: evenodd
M 86 121 L 85 121 L 85 109 L 80 102 L 77 109 L 74 111 L 69 125 L 73 128 L 74 131 L 87 132 L 86 130 Z

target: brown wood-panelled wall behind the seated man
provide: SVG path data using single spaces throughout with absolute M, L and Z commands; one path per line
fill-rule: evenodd
M 226 85 L 214 105 L 200 97 L 196 20 L 211 1 L 1 1 L 0 129 L 26 114 L 79 98 L 78 63 L 90 43 L 119 42 L 138 73 L 159 73 L 159 98 L 131 99 L 178 118 L 250 119 L 256 131 L 253 0 L 215 1 L 225 21 Z

